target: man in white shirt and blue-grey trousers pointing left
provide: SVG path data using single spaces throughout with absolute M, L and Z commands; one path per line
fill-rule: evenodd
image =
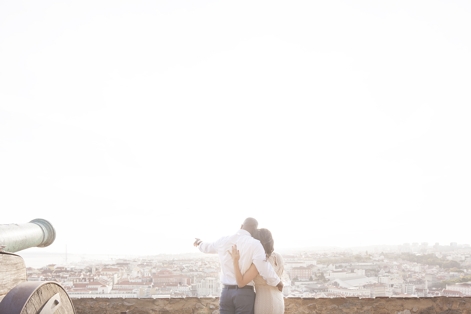
M 283 282 L 278 278 L 271 264 L 266 260 L 265 250 L 260 241 L 252 238 L 252 233 L 257 229 L 259 223 L 254 218 L 247 218 L 241 225 L 240 230 L 233 235 L 222 237 L 216 242 L 203 242 L 198 238 L 193 243 L 203 253 L 218 253 L 221 261 L 221 283 L 222 291 L 219 298 L 220 314 L 252 314 L 255 303 L 254 282 L 249 282 L 243 288 L 237 286 L 234 274 L 232 257 L 227 250 L 237 245 L 240 251 L 239 267 L 244 273 L 253 264 L 257 267 L 260 275 L 271 286 L 283 290 Z

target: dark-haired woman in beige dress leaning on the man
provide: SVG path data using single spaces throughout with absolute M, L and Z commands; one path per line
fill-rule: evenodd
M 274 242 L 271 232 L 266 228 L 256 229 L 252 236 L 260 241 L 265 249 L 268 262 L 273 266 L 278 277 L 281 278 L 284 268 L 283 258 L 279 253 L 273 251 Z M 228 252 L 234 262 L 235 280 L 239 288 L 244 287 L 252 280 L 255 282 L 254 314 L 283 314 L 283 293 L 278 288 L 268 285 L 253 264 L 245 272 L 244 276 L 242 275 L 239 269 L 239 250 L 237 250 L 236 245 L 232 248 L 232 253 Z

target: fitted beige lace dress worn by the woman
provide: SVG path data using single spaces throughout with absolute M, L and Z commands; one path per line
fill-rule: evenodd
M 281 278 L 284 263 L 281 254 L 273 252 L 268 258 L 271 266 L 275 270 L 278 277 Z M 262 276 L 257 275 L 255 282 L 255 308 L 254 314 L 283 314 L 284 299 L 283 293 L 277 287 L 268 285 Z

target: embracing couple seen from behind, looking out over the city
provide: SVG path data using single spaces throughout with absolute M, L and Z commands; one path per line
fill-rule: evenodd
M 235 234 L 216 242 L 196 239 L 203 253 L 219 254 L 222 291 L 220 314 L 283 314 L 283 258 L 273 251 L 268 229 L 247 218 Z M 255 290 L 257 293 L 255 293 Z

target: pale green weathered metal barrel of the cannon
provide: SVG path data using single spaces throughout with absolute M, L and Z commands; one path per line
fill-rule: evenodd
M 26 224 L 0 225 L 0 246 L 7 252 L 32 247 L 46 247 L 56 239 L 56 230 L 46 219 L 33 219 Z

